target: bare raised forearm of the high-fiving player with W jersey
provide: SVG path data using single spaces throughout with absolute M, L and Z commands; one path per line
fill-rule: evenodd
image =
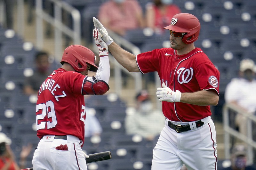
M 140 72 L 136 62 L 136 56 L 118 46 L 115 42 L 108 46 L 109 51 L 115 57 L 116 61 L 120 63 L 129 72 Z

